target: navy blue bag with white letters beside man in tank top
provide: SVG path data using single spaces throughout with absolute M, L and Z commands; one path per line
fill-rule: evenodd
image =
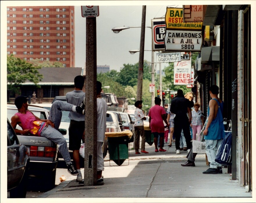
M 216 153 L 215 161 L 222 165 L 232 165 L 232 133 L 226 132 L 218 151 Z

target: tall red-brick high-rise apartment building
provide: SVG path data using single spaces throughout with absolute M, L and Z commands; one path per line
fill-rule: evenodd
M 74 67 L 74 6 L 7 7 L 7 54 Z

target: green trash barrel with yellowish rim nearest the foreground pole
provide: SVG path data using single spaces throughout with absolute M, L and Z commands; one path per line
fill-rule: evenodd
M 118 166 L 128 159 L 128 136 L 108 137 L 109 159 Z

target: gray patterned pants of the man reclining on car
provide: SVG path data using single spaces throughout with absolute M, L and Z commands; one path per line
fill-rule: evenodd
M 69 104 L 63 101 L 55 101 L 50 110 L 49 120 L 54 123 L 55 128 L 48 125 L 48 127 L 44 127 L 41 132 L 41 136 L 48 138 L 49 140 L 55 142 L 59 145 L 58 149 L 66 163 L 71 162 L 71 158 L 67 149 L 67 142 L 63 135 L 58 131 L 60 123 L 61 123 L 61 116 L 63 111 L 72 111 L 72 107 L 74 105 Z

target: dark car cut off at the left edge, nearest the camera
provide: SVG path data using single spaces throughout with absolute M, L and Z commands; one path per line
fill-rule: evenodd
M 7 191 L 10 198 L 25 198 L 29 172 L 29 151 L 7 119 Z

